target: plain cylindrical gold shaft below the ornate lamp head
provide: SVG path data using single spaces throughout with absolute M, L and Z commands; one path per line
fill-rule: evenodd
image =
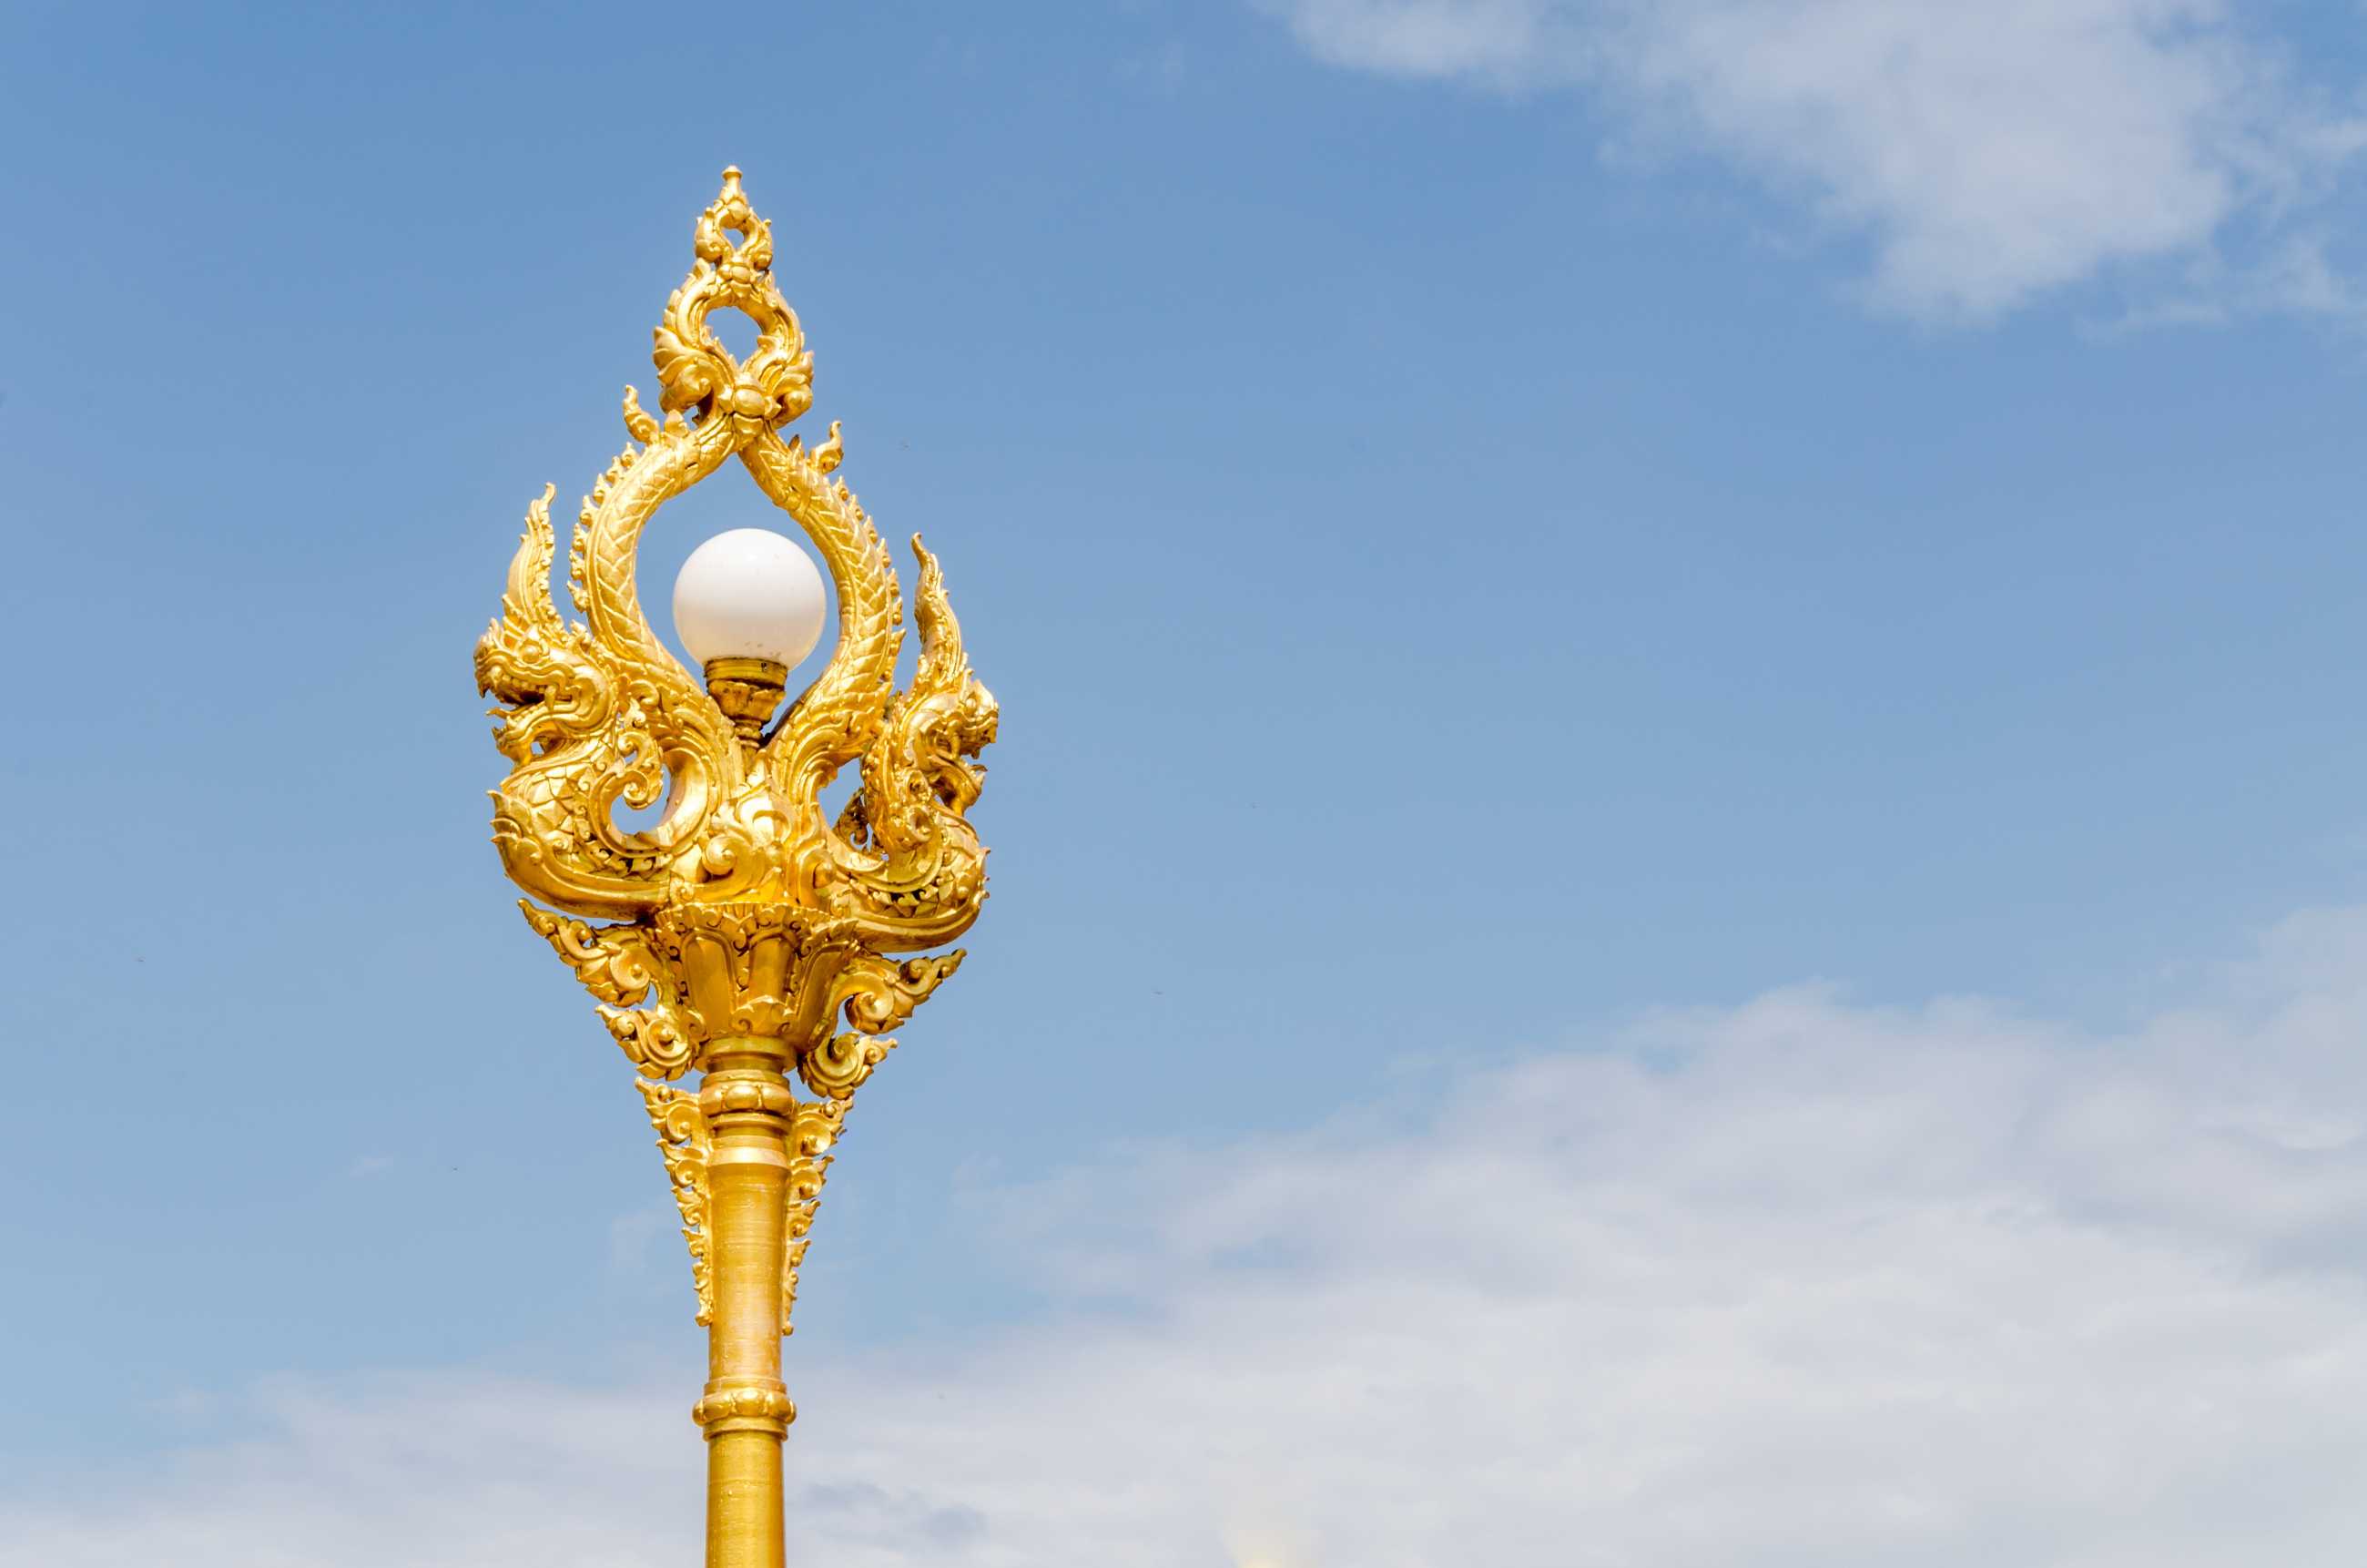
M 708 1390 L 708 1568 L 783 1568 L 781 1440 L 795 1419 L 781 1386 L 781 1265 L 788 1248 L 788 1130 L 795 1099 L 779 1040 L 717 1040 L 698 1085 L 715 1130 L 708 1244 L 715 1319 Z

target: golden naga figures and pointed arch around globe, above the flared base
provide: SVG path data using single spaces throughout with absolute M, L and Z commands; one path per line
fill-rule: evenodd
M 760 902 L 845 921 L 852 947 L 937 947 L 978 919 L 985 846 L 968 824 L 994 739 L 994 696 L 970 673 L 937 559 L 914 535 L 921 661 L 895 692 L 904 604 L 878 531 L 836 476 L 840 426 L 807 450 L 779 426 L 812 403 L 812 353 L 772 277 L 772 225 L 739 175 L 698 218 L 696 263 L 653 336 L 663 419 L 627 388 L 637 445 L 585 497 L 568 590 L 552 599 L 552 490 L 528 507 L 502 616 L 476 651 L 514 763 L 492 836 L 518 886 L 585 919 L 646 926 L 660 910 Z M 757 346 L 739 360 L 710 329 L 741 310 Z M 739 460 L 812 540 L 838 595 L 838 642 L 769 737 L 717 708 L 651 630 L 634 587 L 639 538 L 672 497 Z M 838 820 L 821 789 L 859 763 Z M 665 803 L 656 827 L 618 808 Z M 573 955 L 568 955 L 573 962 Z

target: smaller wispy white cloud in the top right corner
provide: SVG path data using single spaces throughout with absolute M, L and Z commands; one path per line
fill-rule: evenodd
M 2234 306 L 2355 313 L 2275 232 L 2362 121 L 2220 0 L 1262 2 L 1340 66 L 1598 90 L 1863 234 L 1891 310 L 1988 317 L 2128 263 L 2192 301 L 2237 253 Z

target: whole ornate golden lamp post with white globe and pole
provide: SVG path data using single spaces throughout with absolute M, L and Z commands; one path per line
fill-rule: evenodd
M 599 1000 L 641 1073 L 691 1244 L 708 1383 L 708 1568 L 781 1568 L 781 1440 L 795 1416 L 781 1336 L 847 1101 L 961 964 L 942 947 L 978 919 L 985 857 L 966 812 L 994 739 L 994 696 L 970 675 L 935 557 L 918 559 L 921 656 L 895 689 L 904 602 L 888 547 L 838 469 L 838 426 L 807 448 L 779 429 L 812 396 L 812 355 L 772 279 L 772 225 L 736 168 L 698 218 L 698 261 L 656 332 L 658 407 L 625 388 L 632 443 L 592 488 L 552 602 L 552 490 L 525 512 L 502 616 L 476 644 L 499 703 L 509 777 L 492 841 L 528 924 Z M 734 358 L 715 310 L 755 320 Z M 821 635 L 821 578 L 802 550 L 753 528 L 701 545 L 675 585 L 694 677 L 634 592 L 641 528 L 739 460 L 795 519 L 838 592 L 821 675 L 774 718 L 788 670 Z M 859 786 L 831 820 L 821 791 Z M 625 827 L 618 805 L 649 812 Z M 599 924 L 596 924 L 599 921 Z M 836 1028 L 838 1021 L 847 1028 Z M 696 1073 L 696 1090 L 677 1082 Z M 807 1097 L 795 1092 L 805 1085 Z

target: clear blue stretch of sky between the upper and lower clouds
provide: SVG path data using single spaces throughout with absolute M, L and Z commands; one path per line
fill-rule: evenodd
M 2353 341 L 1870 320 L 1584 99 L 1247 7 L 703 14 L 5 19 L 9 1464 L 275 1371 L 696 1381 L 469 651 L 724 163 L 1004 703 L 793 1360 L 1037 1310 L 994 1194 L 1079 1151 L 1804 976 L 2111 1021 L 2367 891 Z

